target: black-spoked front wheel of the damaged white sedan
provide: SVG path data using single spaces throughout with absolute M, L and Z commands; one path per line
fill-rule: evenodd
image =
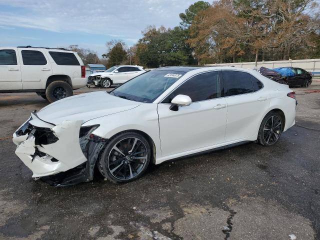
M 136 132 L 123 132 L 111 138 L 97 162 L 100 173 L 114 183 L 137 179 L 151 158 L 148 140 Z

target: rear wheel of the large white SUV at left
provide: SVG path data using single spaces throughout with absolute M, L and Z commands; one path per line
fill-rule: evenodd
M 72 88 L 65 81 L 52 81 L 45 89 L 45 96 L 49 102 L 53 102 L 72 95 Z

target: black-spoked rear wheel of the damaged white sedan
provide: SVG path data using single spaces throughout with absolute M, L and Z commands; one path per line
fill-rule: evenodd
M 283 127 L 282 116 L 275 111 L 270 111 L 262 119 L 257 142 L 264 146 L 271 146 L 275 144 L 280 138 Z

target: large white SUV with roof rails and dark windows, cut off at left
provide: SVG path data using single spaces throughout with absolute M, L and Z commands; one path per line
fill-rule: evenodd
M 0 47 L 0 92 L 36 92 L 49 102 L 85 86 L 85 67 L 64 48 Z

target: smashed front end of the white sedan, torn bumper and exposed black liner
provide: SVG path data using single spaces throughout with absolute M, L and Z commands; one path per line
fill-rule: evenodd
M 35 112 L 13 134 L 15 154 L 40 178 L 54 186 L 93 179 L 96 159 L 106 143 L 92 132 L 99 126 L 82 126 L 82 120 L 58 125 L 39 119 Z

